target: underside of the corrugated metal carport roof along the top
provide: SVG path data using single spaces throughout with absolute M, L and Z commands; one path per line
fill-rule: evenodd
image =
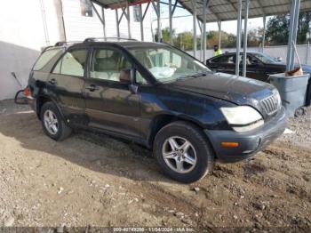
M 126 4 L 143 4 L 149 0 L 91 0 L 105 8 L 116 9 L 126 6 Z M 193 12 L 191 0 L 178 0 L 188 12 Z M 237 0 L 210 0 L 206 14 L 207 22 L 236 20 Z M 249 18 L 262 17 L 275 14 L 284 14 L 291 11 L 291 0 L 251 0 Z M 196 1 L 196 14 L 199 20 L 203 20 L 203 0 Z M 311 0 L 301 0 L 300 12 L 311 11 Z

